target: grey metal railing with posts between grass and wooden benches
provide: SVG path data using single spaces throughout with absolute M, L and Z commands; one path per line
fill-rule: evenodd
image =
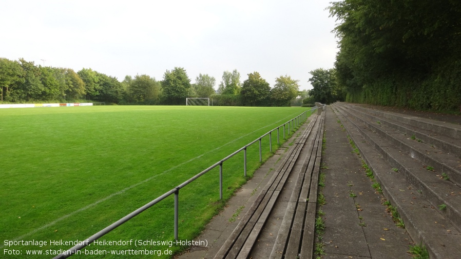
M 145 211 L 146 209 L 152 207 L 153 205 L 161 202 L 162 200 L 164 200 L 166 197 L 174 194 L 175 195 L 175 240 L 178 240 L 178 222 L 179 222 L 179 190 L 183 187 L 185 187 L 186 185 L 190 184 L 191 182 L 194 182 L 197 178 L 199 178 L 200 176 L 202 176 L 203 174 L 207 173 L 208 171 L 216 168 L 217 166 L 219 166 L 219 199 L 222 200 L 222 165 L 223 163 L 228 160 L 229 158 L 233 157 L 234 155 L 238 154 L 239 152 L 241 152 L 243 150 L 243 174 L 244 176 L 246 177 L 246 149 L 253 145 L 254 143 L 258 142 L 259 141 L 259 162 L 262 162 L 262 147 L 261 147 L 261 140 L 264 136 L 267 136 L 269 135 L 269 145 L 270 145 L 270 150 L 272 152 L 272 132 L 277 130 L 277 144 L 280 145 L 280 128 L 283 127 L 283 139 L 285 139 L 285 129 L 286 129 L 286 125 L 288 125 L 288 135 L 290 135 L 290 133 L 293 131 L 294 132 L 294 129 L 295 129 L 295 126 L 299 126 L 302 122 L 304 122 L 307 118 L 308 118 L 308 112 L 313 112 L 314 110 L 318 109 L 320 107 L 313 107 L 311 108 L 310 110 L 308 111 L 304 111 L 303 113 L 301 113 L 300 115 L 290 119 L 290 121 L 287 121 L 285 122 L 284 124 L 278 126 L 277 128 L 274 128 L 272 129 L 271 131 L 268 131 L 267 133 L 265 133 L 264 135 L 256 138 L 256 140 L 252 141 L 251 143 L 243 146 L 242 148 L 236 150 L 235 152 L 233 152 L 232 154 L 224 157 L 222 160 L 218 161 L 217 163 L 215 163 L 214 165 L 206 168 L 205 170 L 201 171 L 200 173 L 196 174 L 195 176 L 189 178 L 189 180 L 185 181 L 184 183 L 178 185 L 177 187 L 175 187 L 174 189 L 171 189 L 167 192 L 165 192 L 164 194 L 162 194 L 161 196 L 157 197 L 155 200 L 152 200 L 151 202 L 147 203 L 146 205 L 140 207 L 139 209 L 129 213 L 128 215 L 122 217 L 120 220 L 112 223 L 111 225 L 107 226 L 106 228 L 102 229 L 101 231 L 99 231 L 98 233 L 95 233 L 93 234 L 92 236 L 86 238 L 85 241 L 83 242 L 80 242 L 80 244 L 78 245 L 75 245 L 73 246 L 72 248 L 64 251 L 62 254 L 60 255 L 57 255 L 55 257 L 53 257 L 53 259 L 61 259 L 61 258 L 67 258 L 73 254 L 75 254 L 76 251 L 88 246 L 89 244 L 93 243 L 93 241 L 97 240 L 98 238 L 102 237 L 103 235 L 109 233 L 110 231 L 116 229 L 117 227 L 119 227 L 120 225 L 122 225 L 123 223 L 129 221 L 131 218 L 135 217 L 136 215 L 140 214 L 141 212 Z M 291 124 L 291 125 L 290 125 Z

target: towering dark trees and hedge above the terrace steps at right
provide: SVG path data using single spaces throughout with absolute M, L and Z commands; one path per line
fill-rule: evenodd
M 344 0 L 329 10 L 347 101 L 459 110 L 461 2 Z

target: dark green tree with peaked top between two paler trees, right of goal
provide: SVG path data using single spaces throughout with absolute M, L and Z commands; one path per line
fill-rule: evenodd
M 258 72 L 248 74 L 240 91 L 243 102 L 251 106 L 267 106 L 270 102 L 271 87 Z

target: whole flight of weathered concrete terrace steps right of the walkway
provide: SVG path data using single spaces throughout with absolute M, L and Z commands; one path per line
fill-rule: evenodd
M 426 244 L 434 258 L 457 258 L 461 250 L 461 189 L 455 183 L 441 180 L 434 172 L 426 170 L 421 162 L 406 152 L 413 154 L 413 157 L 418 156 L 423 163 L 439 163 L 437 170 L 445 170 L 446 161 L 451 161 L 453 156 L 437 156 L 444 163 L 434 161 L 435 153 L 428 156 L 421 151 L 424 148 L 421 149 L 420 145 L 424 144 L 407 140 L 408 136 L 402 137 L 403 134 L 396 133 L 388 126 L 382 127 L 376 123 L 376 119 L 384 121 L 392 117 L 394 121 L 409 121 L 413 125 L 426 125 L 423 126 L 425 128 L 429 127 L 427 125 L 431 125 L 432 129 L 441 128 L 434 122 L 419 123 L 417 118 L 399 118 L 395 114 L 381 117 L 378 111 L 374 111 L 374 117 L 370 118 L 351 106 L 345 108 L 342 104 L 335 104 L 332 107 L 353 138 L 362 158 L 373 170 L 383 193 L 397 207 L 413 240 Z M 453 137 L 458 134 L 456 127 L 451 131 L 443 127 L 442 131 L 451 132 L 449 134 Z M 398 168 L 398 172 L 392 168 Z M 450 172 L 456 180 L 457 172 L 456 169 Z M 437 208 L 440 204 L 446 204 L 447 208 L 440 211 Z

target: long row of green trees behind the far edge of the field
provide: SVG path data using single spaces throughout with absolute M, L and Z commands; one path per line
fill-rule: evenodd
M 146 74 L 127 75 L 122 82 L 91 68 L 75 72 L 69 68 L 35 66 L 24 58 L 0 58 L 0 102 L 106 102 L 113 104 L 183 105 L 186 97 L 207 97 L 214 105 L 290 106 L 308 97 L 299 91 L 299 81 L 289 75 L 276 78 L 271 86 L 258 72 L 241 83 L 240 73 L 224 71 L 215 90 L 216 78 L 199 74 L 191 84 L 184 68 L 166 70 L 163 80 Z

